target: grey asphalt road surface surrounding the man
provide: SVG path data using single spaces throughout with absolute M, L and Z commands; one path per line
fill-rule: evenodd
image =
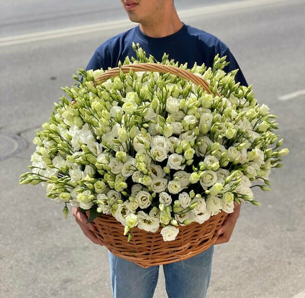
M 45 2 L 1 3 L 5 18 L 1 9 L 0 133 L 16 133 L 28 145 L 0 160 L 0 297 L 108 298 L 106 249 L 90 243 L 72 217 L 64 220 L 61 205 L 46 199 L 42 187 L 18 185 L 18 179 L 29 165 L 35 129 L 48 119 L 60 87 L 71 85 L 71 75 L 86 66 L 95 48 L 123 30 L 119 18 L 124 12 L 110 2 L 99 18 L 98 11 L 105 10 L 98 1 L 88 0 L 86 5 L 80 0 L 54 1 L 49 6 Z M 192 6 L 206 2 L 194 1 Z M 277 115 L 278 133 L 290 154 L 284 157 L 285 166 L 270 176 L 273 190 L 255 193 L 262 205 L 244 205 L 231 240 L 215 246 L 207 297 L 301 298 L 305 296 L 305 1 L 224 2 L 214 2 L 220 5 L 218 12 L 198 6 L 189 14 L 182 0 L 177 6 L 182 21 L 229 46 L 257 100 Z M 64 5 L 78 14 L 70 17 Z M 80 21 L 81 13 L 92 7 L 95 16 Z M 111 19 L 113 9 L 115 19 Z M 60 10 L 59 21 L 56 11 Z M 14 22 L 13 15 L 23 24 Z M 46 32 L 44 40 L 34 35 L 25 41 L 14 37 L 11 45 L 3 42 L 25 33 L 103 21 L 112 23 L 87 33 L 72 31 L 60 37 L 56 31 L 49 37 Z M 156 298 L 166 297 L 163 283 L 160 274 Z

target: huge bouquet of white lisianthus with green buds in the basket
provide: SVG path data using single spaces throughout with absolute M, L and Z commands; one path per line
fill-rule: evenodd
M 156 63 L 134 45 L 133 63 Z M 122 65 L 130 64 L 128 58 Z M 164 54 L 163 65 L 178 66 Z M 112 214 L 128 239 L 133 227 L 175 239 L 179 225 L 203 223 L 234 202 L 251 202 L 252 187 L 270 190 L 268 175 L 288 152 L 277 124 L 251 86 L 235 83 L 237 70 L 179 68 L 203 78 L 209 92 L 182 77 L 152 71 L 82 79 L 54 104 L 34 138 L 30 172 L 21 183 L 46 186 L 46 195 L 90 212 Z M 121 64 L 119 65 L 121 66 Z

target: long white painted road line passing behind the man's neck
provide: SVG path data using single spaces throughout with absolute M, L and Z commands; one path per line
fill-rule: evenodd
M 250 8 L 255 6 L 262 6 L 267 4 L 279 4 L 283 2 L 291 3 L 293 0 L 244 0 L 238 2 L 231 2 L 231 3 L 223 3 L 223 4 L 216 4 L 207 7 L 199 7 L 199 8 L 190 8 L 190 9 L 183 9 L 178 10 L 178 14 L 180 18 L 188 17 L 195 17 L 195 16 L 202 16 L 208 15 L 211 13 L 219 13 L 225 12 L 229 10 L 236 10 L 242 8 Z M 294 0 L 297 1 L 297 0 Z M 106 21 L 100 22 L 90 25 L 83 25 L 83 26 L 74 26 L 69 28 L 63 29 L 56 29 L 56 30 L 49 30 L 49 31 L 42 31 L 42 32 L 35 32 L 31 34 L 22 34 L 16 35 L 11 37 L 3 37 L 0 38 L 0 47 L 1 46 L 8 46 L 8 45 L 16 45 L 28 42 L 35 42 L 40 40 L 48 40 L 53 38 L 61 38 L 73 35 L 80 35 L 80 34 L 88 34 L 93 32 L 100 32 L 104 30 L 111 30 L 111 29 L 118 29 L 124 28 L 128 29 L 135 24 L 132 23 L 128 19 L 120 19 L 115 21 Z

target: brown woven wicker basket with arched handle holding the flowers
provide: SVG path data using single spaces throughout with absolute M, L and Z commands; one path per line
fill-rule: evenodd
M 187 70 L 156 63 L 138 63 L 112 68 L 96 77 L 95 81 L 103 82 L 119 75 L 120 70 L 126 73 L 130 69 L 175 74 L 200 85 L 205 91 L 211 93 L 208 83 L 201 77 Z M 216 231 L 226 217 L 227 213 L 222 211 L 202 224 L 193 222 L 179 226 L 179 233 L 175 240 L 166 242 L 160 234 L 161 227 L 155 233 L 134 227 L 131 240 L 127 242 L 127 236 L 123 235 L 124 226 L 112 215 L 101 214 L 92 223 L 96 227 L 94 234 L 112 254 L 135 262 L 141 267 L 149 267 L 187 259 L 206 250 L 216 241 L 218 237 Z

